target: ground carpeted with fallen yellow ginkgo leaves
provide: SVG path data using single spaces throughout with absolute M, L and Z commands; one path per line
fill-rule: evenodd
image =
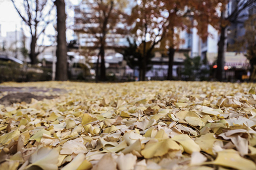
M 256 170 L 255 84 L 2 85 L 66 93 L 0 105 L 0 170 Z

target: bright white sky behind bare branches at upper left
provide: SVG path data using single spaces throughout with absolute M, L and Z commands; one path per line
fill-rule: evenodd
M 70 2 L 74 5 L 78 4 L 81 0 L 70 0 Z M 69 2 L 69 3 L 70 3 Z M 73 16 L 73 11 L 68 12 L 69 17 Z M 70 21 L 70 19 L 69 19 Z M 1 36 L 6 36 L 6 32 L 14 32 L 16 29 L 17 31 L 21 30 L 21 27 L 24 27 L 24 23 L 20 16 L 18 15 L 17 11 L 15 10 L 12 2 L 10 0 L 0 0 L 0 25 L 1 25 Z M 50 32 L 51 30 L 49 30 Z M 29 36 L 28 33 L 25 33 Z M 67 41 L 73 39 L 73 32 L 71 30 L 67 30 L 66 32 Z

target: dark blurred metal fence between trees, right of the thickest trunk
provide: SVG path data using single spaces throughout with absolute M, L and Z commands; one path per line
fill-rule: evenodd
M 239 74 L 239 75 L 238 75 Z M 241 75 L 240 75 L 241 74 Z M 130 68 L 106 68 L 108 81 L 125 82 L 139 80 L 139 70 Z M 168 68 L 152 68 L 147 71 L 146 79 L 148 80 L 166 80 Z M 215 81 L 216 70 L 208 66 L 200 70 L 191 70 L 189 73 L 184 72 L 184 66 L 173 68 L 173 79 L 183 81 Z M 224 81 L 236 82 L 242 80 L 242 73 L 237 73 L 235 69 L 225 70 L 223 72 Z M 95 81 L 95 74 L 88 74 L 82 68 L 70 68 L 69 78 L 71 80 Z

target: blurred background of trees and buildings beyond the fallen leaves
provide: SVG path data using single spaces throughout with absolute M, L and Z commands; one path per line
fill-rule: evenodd
M 256 79 L 256 0 L 0 0 L 0 82 Z

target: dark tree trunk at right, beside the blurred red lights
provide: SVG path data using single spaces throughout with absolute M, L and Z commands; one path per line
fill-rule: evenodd
M 218 57 L 217 57 L 217 72 L 216 78 L 218 81 L 223 81 L 223 72 L 225 64 L 225 39 L 226 39 L 226 27 L 221 27 L 220 39 L 218 42 Z

